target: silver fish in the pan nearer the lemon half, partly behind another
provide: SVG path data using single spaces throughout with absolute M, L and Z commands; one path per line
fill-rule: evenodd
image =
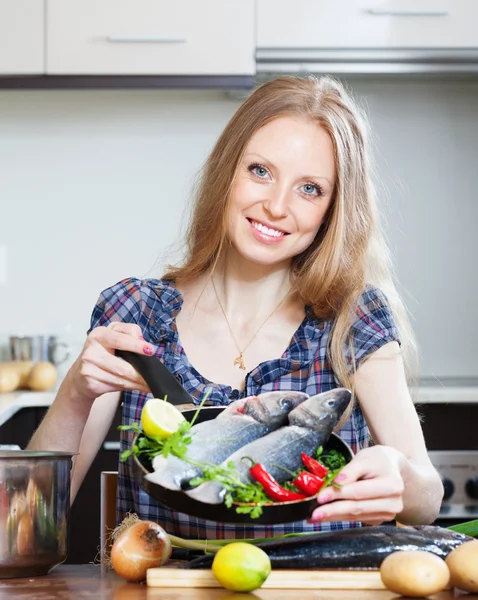
M 308 397 L 303 392 L 279 391 L 233 402 L 215 419 L 191 427 L 187 459 L 221 463 L 241 446 L 287 423 L 289 413 Z M 202 474 L 200 466 L 171 454 L 157 456 L 153 469 L 146 479 L 176 491 L 187 488 L 193 477 Z

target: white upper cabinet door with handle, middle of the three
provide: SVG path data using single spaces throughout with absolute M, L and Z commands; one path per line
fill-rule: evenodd
M 250 75 L 254 0 L 47 0 L 47 73 Z

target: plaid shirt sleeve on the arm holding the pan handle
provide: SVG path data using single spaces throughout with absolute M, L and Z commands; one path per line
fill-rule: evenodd
M 123 279 L 100 294 L 90 320 L 90 333 L 95 327 L 113 322 L 138 323 L 141 313 L 141 280 Z

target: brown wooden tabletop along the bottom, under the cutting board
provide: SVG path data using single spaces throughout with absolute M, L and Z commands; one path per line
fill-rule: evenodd
M 148 588 L 146 584 L 126 583 L 115 573 L 98 565 L 60 565 L 49 575 L 25 579 L 0 580 L 0 600 L 390 600 L 398 598 L 387 591 L 354 590 L 256 590 L 239 594 L 225 589 Z M 433 600 L 452 600 L 458 593 L 442 592 Z M 478 596 L 459 596 L 472 600 Z

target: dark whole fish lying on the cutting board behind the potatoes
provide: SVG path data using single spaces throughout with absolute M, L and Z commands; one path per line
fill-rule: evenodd
M 441 558 L 472 540 L 462 533 L 433 525 L 377 525 L 323 531 L 255 544 L 269 556 L 273 569 L 379 569 L 398 550 L 426 550 Z M 186 568 L 206 569 L 214 554 L 192 560 Z

